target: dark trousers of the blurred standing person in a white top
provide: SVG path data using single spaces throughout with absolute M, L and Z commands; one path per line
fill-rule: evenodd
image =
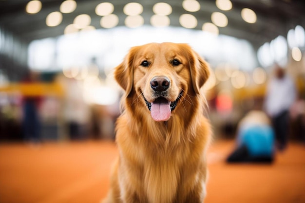
M 278 115 L 272 117 L 272 125 L 277 147 L 278 149 L 283 150 L 286 148 L 288 142 L 289 112 L 282 111 Z

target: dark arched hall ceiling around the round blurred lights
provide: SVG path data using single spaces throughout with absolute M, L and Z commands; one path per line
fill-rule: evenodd
M 181 26 L 179 18 L 182 14 L 191 14 L 197 19 L 197 25 L 192 29 L 202 29 L 205 22 L 211 22 L 213 12 L 221 12 L 228 18 L 228 25 L 218 27 L 219 34 L 247 39 L 255 47 L 275 37 L 287 35 L 289 29 L 296 25 L 305 27 L 305 1 L 304 0 L 231 0 L 232 8 L 229 11 L 220 10 L 215 0 L 197 0 L 200 10 L 196 12 L 186 11 L 183 0 L 109 0 L 114 5 L 115 14 L 118 17 L 116 26 L 124 26 L 126 14 L 123 8 L 127 3 L 138 2 L 143 6 L 140 14 L 144 18 L 144 24 L 151 24 L 154 15 L 153 6 L 158 2 L 166 2 L 171 5 L 172 13 L 168 15 L 170 26 Z M 76 0 L 77 6 L 72 13 L 62 14 L 62 21 L 58 26 L 48 27 L 46 17 L 48 14 L 59 11 L 63 0 L 41 0 L 42 8 L 37 14 L 28 14 L 25 11 L 29 0 L 0 0 L 0 28 L 18 36 L 25 41 L 34 39 L 57 37 L 63 35 L 65 28 L 72 24 L 76 16 L 88 14 L 91 17 L 91 25 L 101 29 L 101 16 L 95 13 L 95 8 L 102 0 Z M 248 23 L 241 17 L 241 10 L 250 8 L 256 13 L 257 21 Z M 105 28 L 104 28 L 105 29 Z

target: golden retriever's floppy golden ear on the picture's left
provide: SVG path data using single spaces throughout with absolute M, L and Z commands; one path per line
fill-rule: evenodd
M 131 48 L 123 62 L 114 69 L 114 78 L 125 90 L 127 96 L 132 92 L 133 88 L 133 59 L 135 52 L 136 47 Z

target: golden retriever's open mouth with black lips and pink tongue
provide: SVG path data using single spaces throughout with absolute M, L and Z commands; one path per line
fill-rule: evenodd
M 183 92 L 181 91 L 177 99 L 173 102 L 168 101 L 166 98 L 159 96 L 153 102 L 147 101 L 142 93 L 145 103 L 151 111 L 152 119 L 155 121 L 167 121 L 171 117 L 171 112 L 176 108 Z

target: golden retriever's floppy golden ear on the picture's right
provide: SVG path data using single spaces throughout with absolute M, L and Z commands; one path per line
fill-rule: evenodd
M 194 91 L 199 94 L 200 88 L 210 76 L 209 64 L 196 52 L 191 50 L 189 55 L 191 82 Z

